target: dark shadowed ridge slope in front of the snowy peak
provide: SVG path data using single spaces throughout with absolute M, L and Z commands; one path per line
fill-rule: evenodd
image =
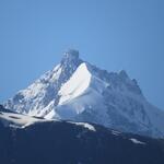
M 0 122 L 1 164 L 163 164 L 164 141 L 96 131 L 65 121 L 39 122 L 24 129 Z M 133 143 L 130 138 L 142 141 Z

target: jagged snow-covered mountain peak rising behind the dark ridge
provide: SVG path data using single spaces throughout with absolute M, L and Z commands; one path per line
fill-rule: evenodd
M 164 137 L 164 112 L 151 105 L 122 70 L 107 72 L 68 50 L 61 62 L 5 102 L 46 119 L 89 121 L 124 132 Z

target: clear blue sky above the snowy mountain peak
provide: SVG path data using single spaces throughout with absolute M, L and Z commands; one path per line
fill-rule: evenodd
M 163 0 L 0 0 L 0 102 L 67 48 L 108 71 L 127 70 L 164 109 Z

